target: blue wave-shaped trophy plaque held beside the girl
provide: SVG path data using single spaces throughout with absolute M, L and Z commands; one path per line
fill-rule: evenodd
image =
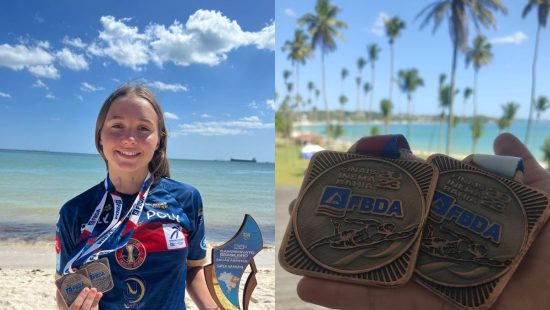
M 225 244 L 212 249 L 212 264 L 204 267 L 206 284 L 212 298 L 221 309 L 239 307 L 239 286 L 248 265 L 250 275 L 242 294 L 243 309 L 248 309 L 252 292 L 256 287 L 256 264 L 254 256 L 263 247 L 262 233 L 252 216 L 245 215 L 239 231 Z

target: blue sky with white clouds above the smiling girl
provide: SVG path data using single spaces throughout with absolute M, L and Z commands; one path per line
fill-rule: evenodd
M 140 81 L 169 157 L 274 161 L 273 1 L 2 2 L 0 28 L 0 148 L 96 153 L 103 101 Z

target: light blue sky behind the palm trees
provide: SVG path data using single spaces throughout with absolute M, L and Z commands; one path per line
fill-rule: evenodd
M 275 19 L 277 21 L 275 46 L 275 85 L 276 91 L 282 98 L 286 92 L 282 72 L 292 70 L 286 53 L 281 51 L 284 42 L 291 40 L 297 28 L 297 20 L 305 13 L 313 12 L 313 0 L 276 2 Z M 433 1 L 331 1 L 341 8 L 338 19 L 348 24 L 347 29 L 341 32 L 344 40 L 337 40 L 337 50 L 325 58 L 327 96 L 329 108 L 339 108 L 338 97 L 341 91 L 340 71 L 347 68 L 349 76 L 345 80 L 344 92 L 349 102 L 347 110 L 356 107 L 355 77 L 358 75 L 357 59 L 368 59 L 367 44 L 376 43 L 382 51 L 376 62 L 376 84 L 374 89 L 374 108 L 379 111 L 379 102 L 387 98 L 389 93 L 389 44 L 385 36 L 382 20 L 399 16 L 406 23 L 400 38 L 395 42 L 395 72 L 400 69 L 417 68 L 424 79 L 424 87 L 420 87 L 414 94 L 414 112 L 416 114 L 439 113 L 436 89 L 440 73 L 450 76 L 452 45 L 449 37 L 448 25 L 443 22 L 435 34 L 432 33 L 433 24 L 420 29 L 421 18 L 415 21 L 417 14 Z M 478 76 L 478 113 L 500 117 L 501 105 L 514 101 L 521 106 L 516 117 L 527 118 L 529 113 L 528 102 L 531 94 L 531 65 L 535 46 L 537 27 L 537 11 L 532 10 L 527 18 L 521 18 L 521 12 L 527 1 L 503 1 L 508 7 L 508 14 L 495 14 L 497 29 L 481 28 L 492 42 L 494 58 L 488 67 L 482 67 Z M 550 76 L 546 69 L 550 66 L 550 30 L 541 32 L 538 59 L 537 95 L 550 97 Z M 471 44 L 477 34 L 473 25 L 470 27 Z M 302 96 L 308 98 L 307 83 L 313 81 L 317 87 L 321 85 L 321 60 L 319 51 L 309 59 L 305 66 L 300 68 L 300 89 Z M 460 55 L 457 63 L 457 87 L 464 89 L 473 85 L 474 71 L 472 67 L 465 67 L 464 56 Z M 370 64 L 363 69 L 363 82 L 371 78 Z M 448 78 L 447 81 L 450 81 Z M 294 82 L 294 80 L 292 81 Z M 315 98 L 314 95 L 312 95 Z M 406 96 L 393 88 L 394 112 L 406 111 Z M 463 111 L 462 94 L 455 99 L 455 112 L 459 115 Z M 280 102 L 277 102 L 278 106 Z M 318 107 L 322 105 L 319 98 Z M 367 101 L 368 107 L 368 101 Z M 472 114 L 472 99 L 467 103 L 466 114 Z M 542 115 L 543 119 L 550 119 L 550 112 Z

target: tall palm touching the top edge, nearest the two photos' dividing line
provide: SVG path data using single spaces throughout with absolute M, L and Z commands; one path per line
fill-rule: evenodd
M 326 111 L 326 126 L 328 128 L 330 115 L 325 87 L 325 54 L 336 49 L 334 38 L 342 38 L 339 28 L 347 28 L 347 24 L 336 19 L 340 12 L 337 6 L 331 5 L 329 0 L 317 0 L 315 14 L 307 13 L 298 20 L 298 24 L 306 26 L 311 36 L 311 46 L 321 50 L 321 77 L 323 101 Z

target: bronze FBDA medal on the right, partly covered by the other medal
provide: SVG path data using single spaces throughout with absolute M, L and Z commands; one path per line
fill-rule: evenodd
M 521 170 L 518 160 L 514 168 L 519 164 Z M 518 182 L 521 172 L 514 178 L 509 167 L 497 175 L 445 155 L 431 156 L 428 162 L 440 175 L 415 279 L 461 308 L 487 309 L 546 221 L 548 197 Z M 505 160 L 492 156 L 487 161 L 492 167 L 495 162 Z

